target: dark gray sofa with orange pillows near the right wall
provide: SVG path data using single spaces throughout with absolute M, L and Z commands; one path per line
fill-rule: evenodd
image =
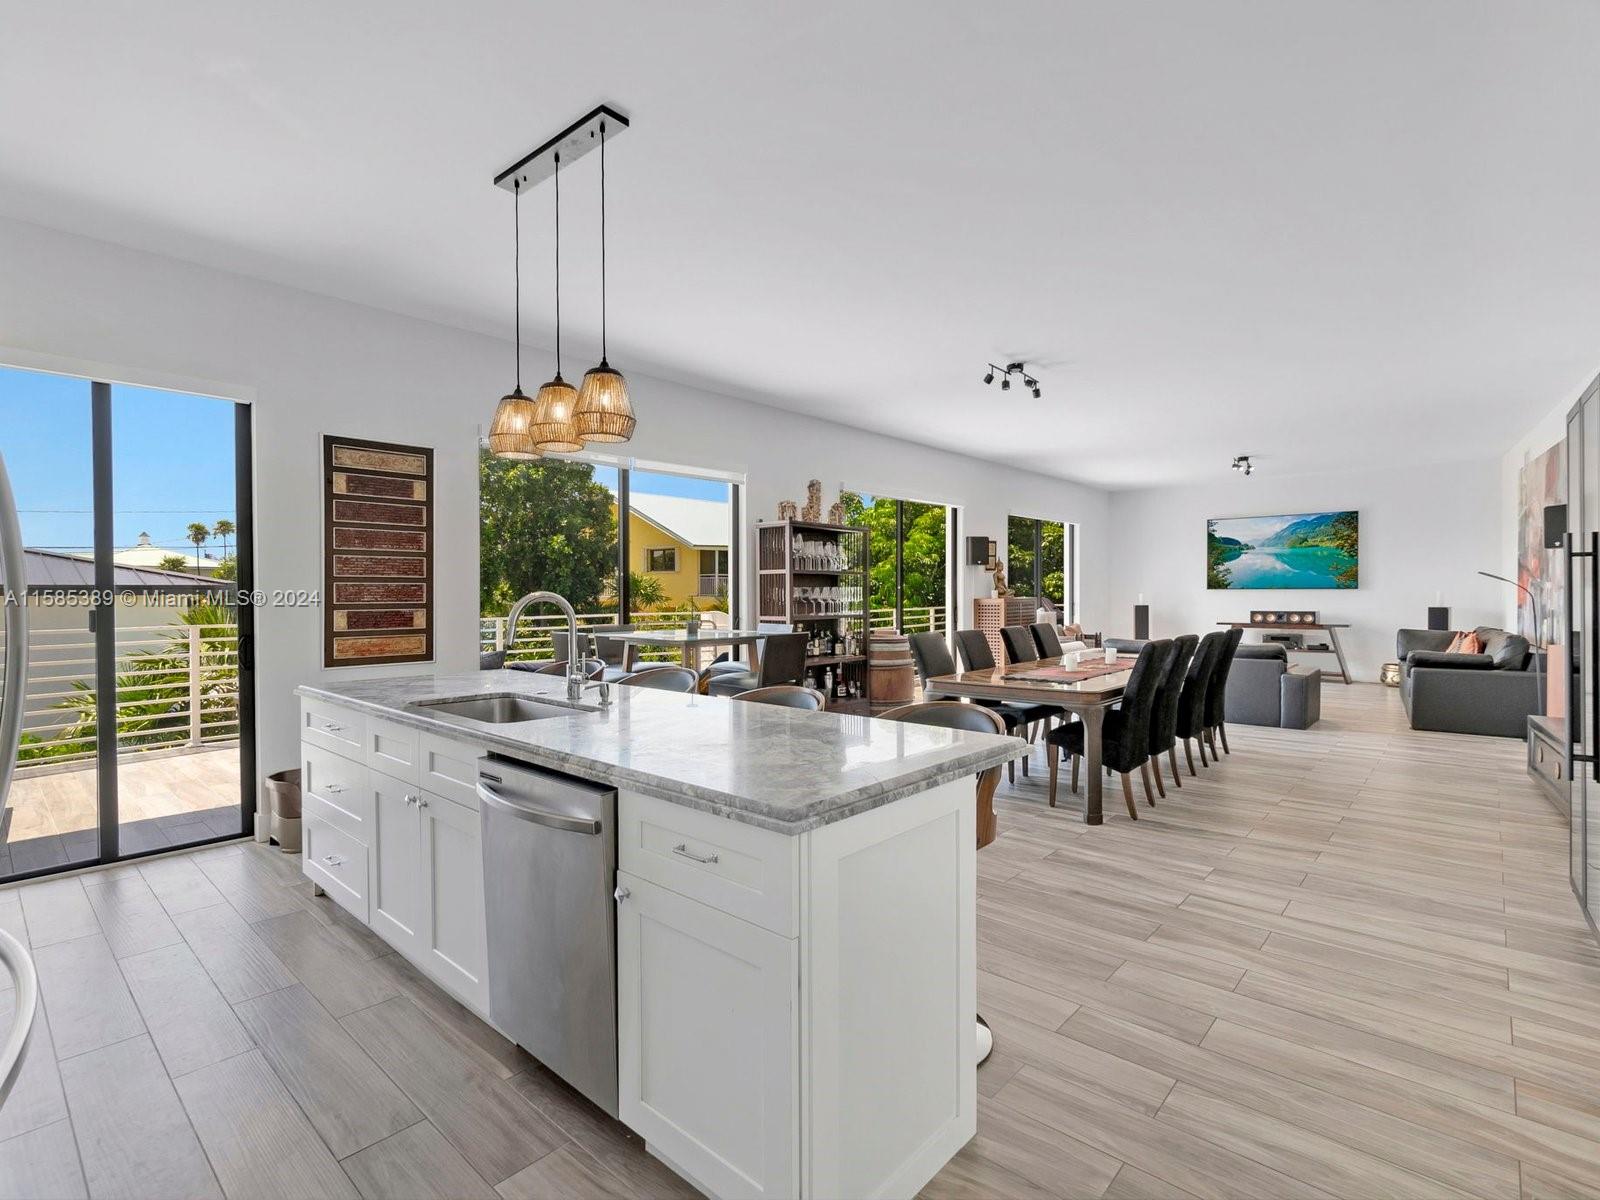
M 1450 630 L 1402 629 L 1395 637 L 1411 728 L 1526 738 L 1528 717 L 1539 710 L 1541 656 L 1518 634 L 1490 626 L 1474 632 L 1482 654 L 1446 654 Z

